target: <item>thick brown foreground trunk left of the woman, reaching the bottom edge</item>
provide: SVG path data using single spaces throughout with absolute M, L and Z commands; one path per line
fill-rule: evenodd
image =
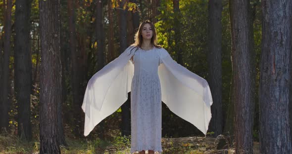
M 57 107 L 61 103 L 59 1 L 40 0 L 40 154 L 60 154 Z

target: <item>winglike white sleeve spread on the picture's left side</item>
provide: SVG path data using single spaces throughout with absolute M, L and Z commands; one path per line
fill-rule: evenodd
M 127 48 L 89 80 L 82 104 L 85 113 L 84 136 L 128 99 L 134 74 L 134 66 L 129 61 L 131 56 Z

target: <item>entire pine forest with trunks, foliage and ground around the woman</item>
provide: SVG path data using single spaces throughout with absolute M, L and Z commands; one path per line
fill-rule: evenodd
M 130 99 L 81 106 L 145 20 L 213 99 L 206 136 L 162 103 L 163 154 L 292 154 L 291 0 L 1 0 L 0 154 L 130 154 Z

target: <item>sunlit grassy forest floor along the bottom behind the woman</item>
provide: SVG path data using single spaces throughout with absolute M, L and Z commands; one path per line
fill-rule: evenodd
M 114 137 L 112 141 L 66 138 L 68 147 L 62 154 L 130 154 L 130 137 Z M 235 154 L 234 147 L 216 150 L 218 138 L 181 137 L 162 138 L 162 154 Z M 0 154 L 39 154 L 38 140 L 21 141 L 15 135 L 0 136 Z M 253 154 L 259 153 L 259 143 L 254 142 Z M 138 154 L 138 153 L 137 153 Z M 147 154 L 147 152 L 146 152 Z

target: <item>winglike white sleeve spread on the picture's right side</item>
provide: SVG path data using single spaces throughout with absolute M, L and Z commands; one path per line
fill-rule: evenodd
M 165 49 L 160 51 L 163 64 L 158 75 L 163 103 L 206 135 L 213 103 L 207 81 L 175 62 Z

